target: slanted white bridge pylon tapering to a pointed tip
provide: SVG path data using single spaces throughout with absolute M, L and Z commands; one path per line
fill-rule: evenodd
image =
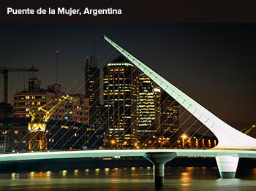
M 256 149 L 256 139 L 251 136 L 247 136 L 244 133 L 241 133 L 239 130 L 228 125 L 226 122 L 219 119 L 206 108 L 198 104 L 192 98 L 189 98 L 188 95 L 183 93 L 181 90 L 178 90 L 177 87 L 172 85 L 166 79 L 161 77 L 152 69 L 148 68 L 144 63 L 139 61 L 133 55 L 129 54 L 122 47 L 118 46 L 115 42 L 110 40 L 107 36 L 104 36 L 105 40 L 109 42 L 118 52 L 121 52 L 125 58 L 131 61 L 138 69 L 143 71 L 148 77 L 150 77 L 162 90 L 165 90 L 170 96 L 172 96 L 176 101 L 178 101 L 181 106 L 184 106 L 188 112 L 194 115 L 197 120 L 206 125 L 206 128 L 211 130 L 219 143 L 214 149 Z

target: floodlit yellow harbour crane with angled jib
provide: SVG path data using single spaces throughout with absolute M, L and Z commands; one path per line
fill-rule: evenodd
M 65 101 L 78 101 L 70 95 L 62 95 L 60 98 L 55 98 L 48 103 L 39 106 L 35 109 L 29 109 L 29 114 L 31 120 L 28 124 L 29 133 L 31 139 L 29 141 L 29 149 L 34 150 L 46 150 L 47 149 L 47 132 L 46 132 L 46 122 L 50 120 L 59 109 L 59 107 L 65 103 Z M 56 103 L 49 110 L 46 109 L 50 104 Z

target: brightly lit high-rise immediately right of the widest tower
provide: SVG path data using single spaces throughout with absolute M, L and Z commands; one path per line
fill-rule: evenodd
M 140 74 L 138 76 L 137 136 L 141 144 L 157 129 L 157 122 L 155 122 L 157 109 L 154 101 L 151 79 L 145 74 Z

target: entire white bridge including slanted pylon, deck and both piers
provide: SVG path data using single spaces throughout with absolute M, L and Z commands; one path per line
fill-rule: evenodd
M 203 123 L 215 136 L 218 144 L 214 149 L 115 149 L 115 150 L 83 150 L 72 152 L 31 152 L 0 155 L 1 161 L 14 160 L 42 160 L 53 158 L 75 158 L 75 157 L 146 157 L 154 164 L 154 185 L 162 186 L 164 182 L 164 167 L 167 161 L 174 157 L 216 157 L 219 174 L 221 178 L 234 178 L 238 166 L 239 157 L 256 157 L 256 139 L 232 128 L 217 116 L 209 112 L 188 95 L 178 90 L 177 87 L 167 82 L 144 63 L 129 54 L 115 42 L 105 36 L 105 40 L 121 52 L 140 71 L 150 77 L 162 90 L 178 101 L 197 120 Z

